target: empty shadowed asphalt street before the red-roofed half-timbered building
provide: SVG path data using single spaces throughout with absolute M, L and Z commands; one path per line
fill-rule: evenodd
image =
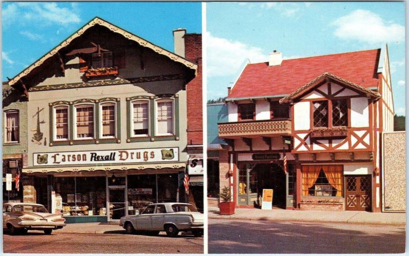
M 403 253 L 405 226 L 209 219 L 209 253 Z

